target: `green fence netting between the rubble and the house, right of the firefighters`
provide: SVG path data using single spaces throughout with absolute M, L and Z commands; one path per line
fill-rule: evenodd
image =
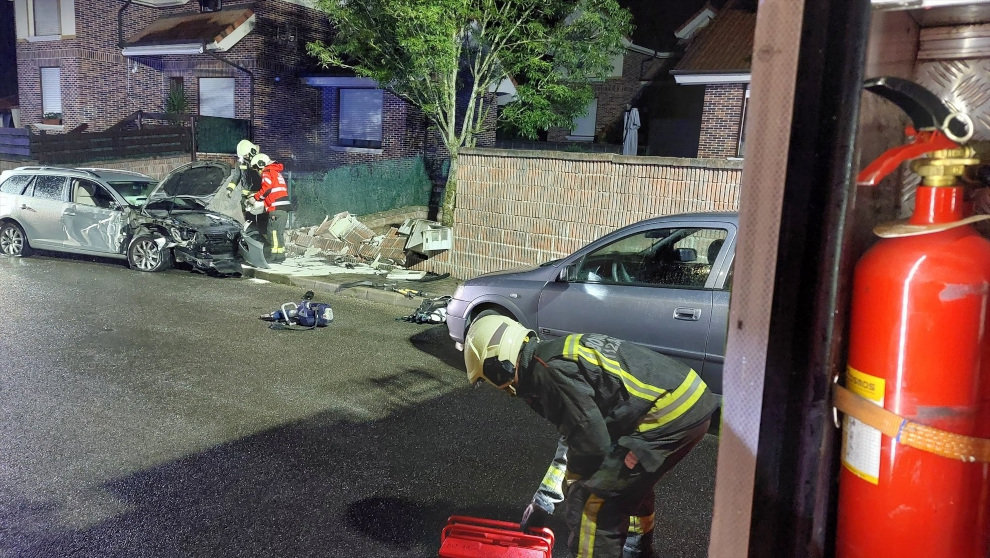
M 318 225 L 343 211 L 369 215 L 425 206 L 433 186 L 422 157 L 350 165 L 326 173 L 289 173 L 286 179 L 296 205 L 296 227 Z

